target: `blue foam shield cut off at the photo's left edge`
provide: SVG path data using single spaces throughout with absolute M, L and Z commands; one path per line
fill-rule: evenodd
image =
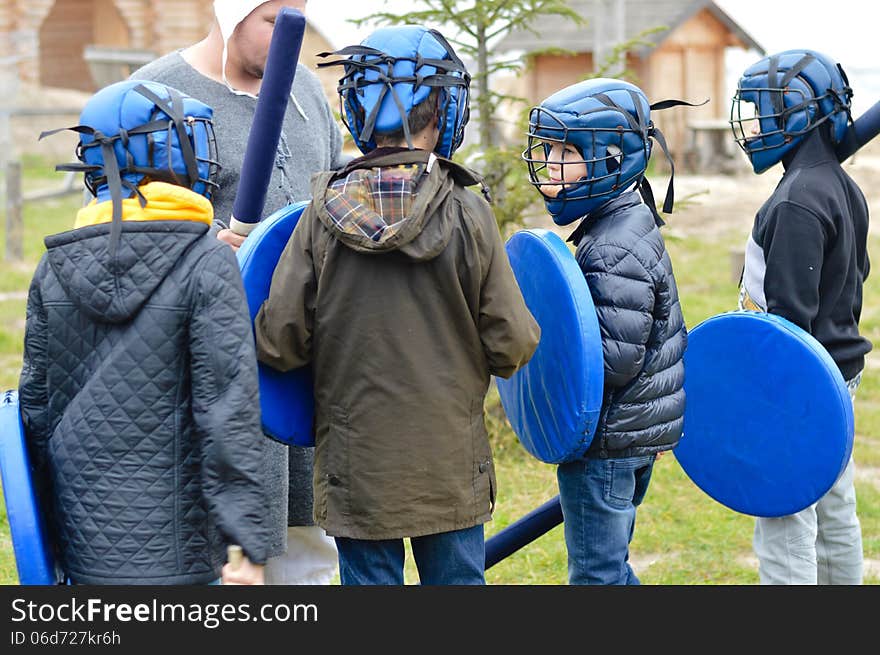
M 19 582 L 56 584 L 55 559 L 34 493 L 17 391 L 7 391 L 0 401 L 0 476 Z

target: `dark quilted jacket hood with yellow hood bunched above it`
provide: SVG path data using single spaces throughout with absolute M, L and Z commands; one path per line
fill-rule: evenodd
M 201 198 L 188 189 L 180 189 Z M 65 294 L 98 321 L 121 323 L 134 316 L 184 252 L 210 227 L 210 212 L 206 222 L 201 212 L 191 208 L 187 211 L 183 206 L 178 208 L 177 220 L 156 220 L 157 215 L 167 216 L 170 207 L 155 199 L 153 211 L 159 205 L 164 210 L 149 214 L 149 198 L 143 209 L 137 199 L 132 201 L 123 210 L 122 235 L 115 257 L 110 255 L 111 223 L 99 222 L 103 214 L 112 213 L 104 207 L 111 204 L 109 201 L 81 210 L 77 222 L 82 220 L 85 227 L 45 239 L 46 257 Z M 86 221 L 82 215 L 86 209 L 91 210 L 88 217 L 96 220 Z

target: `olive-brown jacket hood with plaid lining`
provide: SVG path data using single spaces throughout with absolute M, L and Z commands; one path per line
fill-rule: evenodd
M 319 220 L 352 250 L 399 251 L 426 261 L 443 251 L 458 220 L 452 211 L 438 211 L 455 183 L 481 182 L 473 171 L 434 153 L 378 149 L 316 176 L 312 194 Z

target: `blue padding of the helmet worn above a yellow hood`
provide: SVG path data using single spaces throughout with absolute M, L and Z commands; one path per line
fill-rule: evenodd
M 140 93 L 144 87 L 161 100 L 171 101 L 172 94 L 181 100 L 182 128 L 196 158 L 197 177 L 190 179 L 187 157 L 180 141 L 177 120 L 152 99 Z M 80 158 L 95 170 L 86 172 L 86 181 L 94 187 L 99 201 L 110 198 L 104 151 L 97 146 L 97 133 L 104 137 L 122 137 L 113 142 L 113 151 L 122 180 L 133 186 L 145 177 L 174 182 L 191 188 L 208 198 L 211 196 L 217 162 L 211 130 L 211 108 L 171 89 L 164 84 L 141 80 L 124 80 L 104 87 L 92 96 L 80 114 L 80 126 L 95 134 L 81 132 Z M 155 129 L 145 133 L 127 133 L 159 121 Z

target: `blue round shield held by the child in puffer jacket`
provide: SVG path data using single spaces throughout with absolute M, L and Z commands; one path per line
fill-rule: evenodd
M 542 462 L 583 455 L 602 408 L 599 321 L 574 255 L 553 232 L 521 230 L 507 255 L 541 341 L 529 363 L 497 380 L 501 404 L 523 447 Z

